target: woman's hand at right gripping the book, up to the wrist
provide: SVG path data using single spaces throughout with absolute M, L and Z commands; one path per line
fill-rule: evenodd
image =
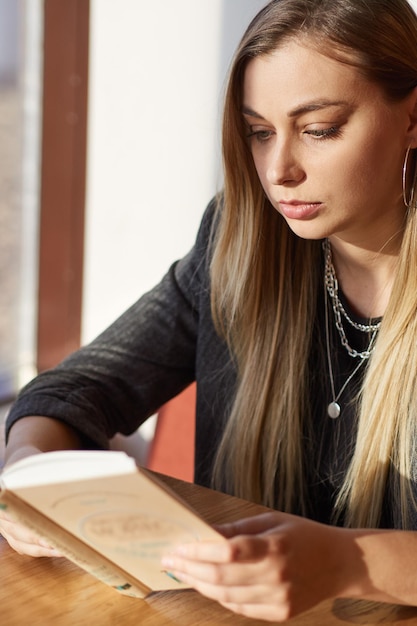
M 363 575 L 360 551 L 341 528 L 274 512 L 219 530 L 227 541 L 178 546 L 163 566 L 247 617 L 285 621 L 336 597 Z

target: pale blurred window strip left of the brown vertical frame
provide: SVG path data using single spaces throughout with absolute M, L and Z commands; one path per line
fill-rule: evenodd
M 41 13 L 0 3 L 0 402 L 35 371 Z

